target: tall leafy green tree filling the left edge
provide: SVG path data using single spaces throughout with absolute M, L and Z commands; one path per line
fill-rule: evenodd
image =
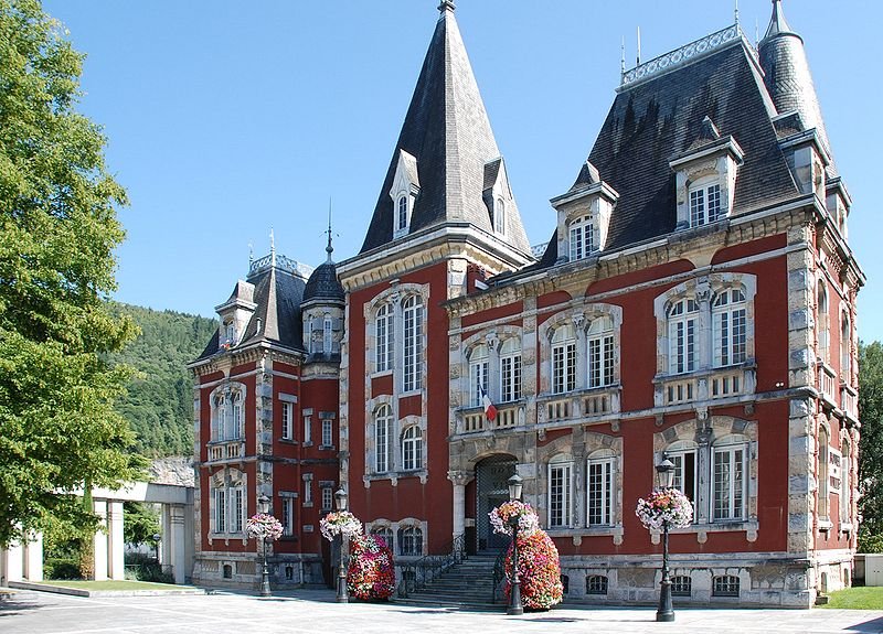
M 74 109 L 82 61 L 39 2 L 0 0 L 0 545 L 53 516 L 94 527 L 63 494 L 138 473 L 108 362 L 136 334 L 106 301 L 126 193 Z

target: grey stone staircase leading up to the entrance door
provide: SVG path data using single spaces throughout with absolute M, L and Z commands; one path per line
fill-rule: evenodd
M 496 554 L 470 555 L 425 588 L 409 592 L 407 598 L 396 598 L 396 603 L 496 610 L 502 605 L 491 592 L 496 558 Z

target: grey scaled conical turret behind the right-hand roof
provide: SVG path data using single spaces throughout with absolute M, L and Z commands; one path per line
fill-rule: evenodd
M 804 129 L 816 128 L 828 152 L 828 132 L 809 72 L 804 39 L 791 30 L 785 20 L 781 0 L 773 0 L 773 18 L 766 35 L 758 44 L 764 83 L 779 115 L 796 111 Z M 833 162 L 829 165 L 833 170 Z

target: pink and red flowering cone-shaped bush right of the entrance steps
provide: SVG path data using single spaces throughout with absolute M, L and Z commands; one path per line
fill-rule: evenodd
M 521 601 L 529 610 L 549 610 L 561 603 L 564 585 L 561 583 L 558 549 L 545 530 L 536 530 L 518 538 L 518 572 L 521 581 Z M 506 555 L 506 597 L 509 598 L 512 576 L 512 546 Z

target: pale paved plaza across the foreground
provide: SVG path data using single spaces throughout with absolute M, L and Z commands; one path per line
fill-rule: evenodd
M 77 598 L 20 591 L 0 601 L 3 634 L 195 634 L 274 632 L 520 633 L 881 633 L 883 610 L 689 610 L 674 623 L 656 623 L 652 608 L 560 605 L 550 612 L 507 616 L 449 608 L 333 602 L 323 590 L 283 593 L 273 599 L 238 593 Z

